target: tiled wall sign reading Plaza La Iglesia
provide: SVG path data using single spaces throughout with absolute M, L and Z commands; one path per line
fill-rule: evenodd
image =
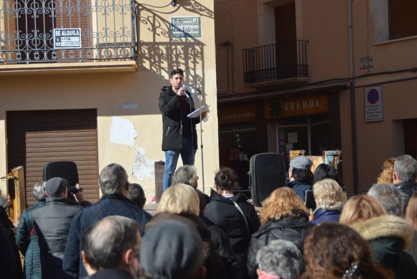
M 171 38 L 201 38 L 200 17 L 172 17 Z

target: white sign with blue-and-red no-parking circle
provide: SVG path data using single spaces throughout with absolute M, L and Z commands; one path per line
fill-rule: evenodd
M 365 122 L 384 120 L 382 86 L 365 87 Z

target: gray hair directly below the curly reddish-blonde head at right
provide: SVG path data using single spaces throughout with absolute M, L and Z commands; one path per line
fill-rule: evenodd
M 388 214 L 402 217 L 404 199 L 400 190 L 388 183 L 376 183 L 368 191 L 385 208 Z

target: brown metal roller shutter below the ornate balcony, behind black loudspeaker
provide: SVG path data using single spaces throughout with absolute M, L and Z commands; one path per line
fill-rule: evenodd
M 99 199 L 97 110 L 7 112 L 8 171 L 23 166 L 26 205 L 46 163 L 74 161 L 79 184 L 91 202 Z

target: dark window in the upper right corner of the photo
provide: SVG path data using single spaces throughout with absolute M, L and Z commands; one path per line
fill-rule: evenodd
M 417 35 L 416 11 L 416 0 L 389 0 L 390 40 Z

